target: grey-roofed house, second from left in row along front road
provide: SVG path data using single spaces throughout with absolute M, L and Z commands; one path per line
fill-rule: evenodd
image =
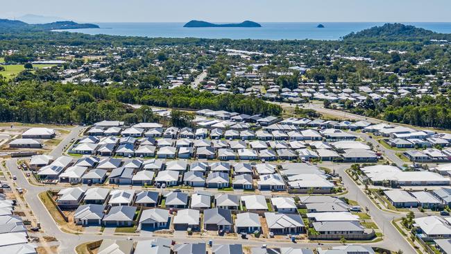
M 105 226 L 132 226 L 136 208 L 134 206 L 113 206 L 103 217 Z M 100 249 L 99 249 L 100 251 Z M 98 252 L 99 253 L 99 252 Z

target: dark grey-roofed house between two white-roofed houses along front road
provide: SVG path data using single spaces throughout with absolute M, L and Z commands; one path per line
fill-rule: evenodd
M 205 230 L 232 231 L 233 220 L 230 210 L 212 208 L 203 212 L 203 228 Z

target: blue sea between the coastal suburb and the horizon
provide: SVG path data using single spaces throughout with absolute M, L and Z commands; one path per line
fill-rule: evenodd
M 339 40 L 351 32 L 358 32 L 384 23 L 260 23 L 259 28 L 185 28 L 184 23 L 97 23 L 101 28 L 74 29 L 70 32 L 90 35 L 126 35 L 146 37 L 198 37 L 211 39 L 265 40 Z M 451 23 L 404 23 L 438 33 L 451 33 Z

